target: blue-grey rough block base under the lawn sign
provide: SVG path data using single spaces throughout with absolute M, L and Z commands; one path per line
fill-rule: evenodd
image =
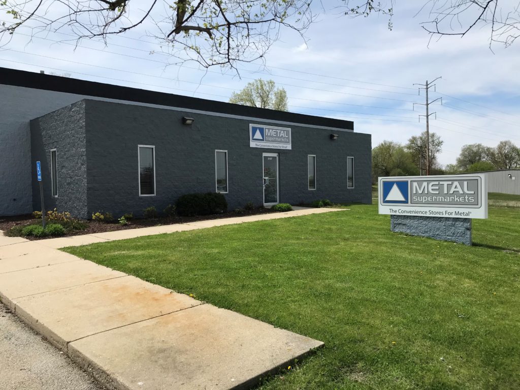
M 391 215 L 390 229 L 412 236 L 471 245 L 471 218 Z

